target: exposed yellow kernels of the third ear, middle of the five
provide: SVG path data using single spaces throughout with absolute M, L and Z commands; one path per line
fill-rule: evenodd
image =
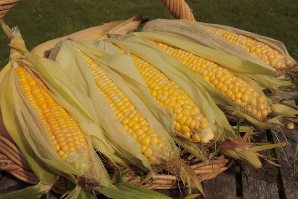
M 123 53 L 118 46 L 117 49 Z M 151 96 L 160 106 L 166 105 L 172 110 L 175 130 L 201 143 L 206 144 L 213 140 L 214 133 L 210 128 L 209 121 L 200 113 L 200 109 L 193 100 L 156 67 L 133 53 L 131 53 L 131 58 L 145 80 Z

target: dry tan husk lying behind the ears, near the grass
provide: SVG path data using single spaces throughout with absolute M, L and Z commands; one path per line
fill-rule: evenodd
M 67 36 L 63 36 L 60 38 L 56 38 L 45 43 L 39 44 L 35 48 L 33 48 L 30 52 L 37 54 L 41 57 L 45 57 L 45 52 L 53 48 L 60 40 L 75 37 L 80 38 L 87 42 L 92 42 L 96 39 L 105 39 L 108 37 L 122 37 L 123 35 L 129 34 L 134 32 L 140 22 L 142 16 L 132 17 L 128 20 L 120 20 L 120 21 L 113 21 L 107 24 L 103 24 L 100 26 L 95 26 L 91 28 L 87 28 L 75 33 L 72 33 Z

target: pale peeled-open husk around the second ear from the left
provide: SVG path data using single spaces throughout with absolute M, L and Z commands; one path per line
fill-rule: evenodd
M 183 183 L 190 185 L 190 187 L 197 188 L 202 192 L 196 174 L 179 158 L 179 149 L 175 146 L 170 136 L 173 132 L 172 115 L 168 115 L 169 111 L 162 110 L 152 98 L 149 99 L 152 102 L 152 109 L 148 109 L 147 104 L 142 101 L 142 99 L 151 97 L 148 89 L 144 90 L 145 82 L 139 83 L 140 87 L 136 88 L 136 90 L 138 90 L 138 95 L 136 95 L 136 93 L 132 91 L 134 88 L 114 72 L 114 70 L 128 69 L 127 66 L 131 64 L 130 58 L 126 55 L 118 54 L 107 55 L 104 59 L 98 59 L 95 55 L 90 53 L 89 50 L 80 45 L 80 43 L 74 42 L 74 40 L 76 39 L 72 38 L 72 40 L 59 42 L 51 52 L 49 58 L 59 63 L 66 74 L 69 75 L 73 84 L 92 99 L 98 115 L 98 124 L 104 129 L 105 136 L 112 142 L 113 148 L 115 148 L 129 164 L 137 166 L 146 172 L 165 168 L 169 172 L 179 175 Z M 84 43 L 91 45 L 87 42 Z M 125 132 L 122 124 L 118 121 L 109 104 L 97 88 L 95 81 L 93 81 L 89 66 L 75 47 L 79 48 L 107 73 L 112 81 L 129 100 L 131 100 L 141 115 L 146 117 L 151 128 L 157 133 L 160 140 L 169 147 L 168 149 L 160 150 L 154 147 L 153 159 L 147 159 L 141 153 L 138 142 Z M 91 47 L 96 48 L 94 45 L 91 45 Z M 96 49 L 99 50 L 98 54 L 106 54 L 99 48 Z M 72 71 L 72 73 L 70 73 L 70 71 Z M 136 71 L 131 70 L 131 72 Z M 157 116 L 155 117 L 155 115 Z M 163 121 L 164 125 L 162 125 L 157 118 Z

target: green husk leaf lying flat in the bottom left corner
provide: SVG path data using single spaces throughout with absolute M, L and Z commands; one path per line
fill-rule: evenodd
M 52 185 L 43 185 L 39 183 L 23 190 L 0 194 L 0 199 L 39 199 L 42 195 L 48 193 Z

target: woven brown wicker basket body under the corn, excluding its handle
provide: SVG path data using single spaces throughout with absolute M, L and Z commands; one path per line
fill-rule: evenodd
M 205 163 L 200 162 L 197 158 L 194 158 L 194 156 L 189 155 L 185 150 L 181 151 L 181 155 L 196 172 L 200 181 L 216 177 L 233 164 L 233 161 L 230 158 L 226 158 L 223 155 Z M 9 139 L 2 135 L 0 135 L 0 170 L 7 171 L 24 182 L 31 184 L 39 183 L 39 179 L 35 176 L 26 162 L 22 152 Z M 124 180 L 139 186 L 142 183 L 142 177 L 134 172 L 129 173 Z M 176 176 L 157 174 L 154 175 L 149 182 L 143 184 L 142 187 L 147 189 L 175 189 L 185 186 Z M 58 194 L 65 193 L 63 178 L 60 178 L 56 182 L 52 190 Z

